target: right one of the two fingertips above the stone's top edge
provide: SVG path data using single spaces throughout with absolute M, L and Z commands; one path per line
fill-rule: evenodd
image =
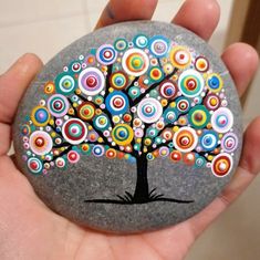
M 175 24 L 187 28 L 209 40 L 220 17 L 220 8 L 216 0 L 187 0 L 173 19 Z

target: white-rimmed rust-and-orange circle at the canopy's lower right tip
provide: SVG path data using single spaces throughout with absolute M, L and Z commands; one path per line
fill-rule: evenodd
M 232 169 L 232 157 L 229 154 L 217 155 L 211 163 L 211 171 L 216 177 L 226 177 Z

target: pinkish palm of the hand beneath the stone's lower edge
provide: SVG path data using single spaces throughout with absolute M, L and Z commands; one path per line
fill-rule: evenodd
M 50 259 L 114 260 L 121 259 L 122 254 L 127 259 L 171 259 L 171 256 L 181 259 L 195 239 L 189 221 L 170 229 L 132 236 L 81 228 L 46 208 L 25 177 L 17 173 L 9 157 L 4 156 L 0 162 L 1 173 L 8 175 L 8 184 L 2 181 L 0 187 L 1 212 L 6 212 L 1 214 L 1 221 L 7 223 L 10 239 L 19 245 L 18 250 L 22 250 L 27 259 L 49 256 Z M 165 242 L 169 238 L 174 246 Z

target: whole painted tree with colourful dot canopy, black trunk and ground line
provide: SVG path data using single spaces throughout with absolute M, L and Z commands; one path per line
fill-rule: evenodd
M 232 168 L 238 141 L 221 75 L 191 48 L 156 35 L 92 49 L 64 64 L 42 89 L 42 100 L 22 127 L 32 174 L 65 168 L 90 154 L 136 164 L 136 188 L 118 199 L 92 202 L 139 204 L 166 198 L 149 188 L 147 165 L 157 157 L 211 168 Z

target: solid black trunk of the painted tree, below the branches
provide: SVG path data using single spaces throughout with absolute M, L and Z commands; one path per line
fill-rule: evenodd
M 149 186 L 147 179 L 147 166 L 148 162 L 146 156 L 141 156 L 136 158 L 136 174 L 137 180 L 134 193 L 135 202 L 146 202 L 149 200 Z

